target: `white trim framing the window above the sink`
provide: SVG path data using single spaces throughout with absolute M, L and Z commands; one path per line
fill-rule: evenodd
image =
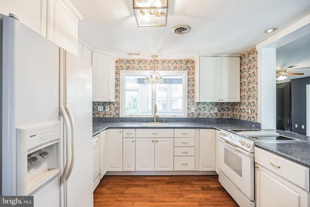
M 182 76 L 182 86 L 183 86 L 183 111 L 182 115 L 160 115 L 160 117 L 173 117 L 173 118 L 184 118 L 187 117 L 187 70 L 156 70 L 161 75 L 181 75 Z M 125 86 L 124 80 L 126 75 L 143 75 L 146 76 L 151 70 L 121 70 L 120 71 L 120 117 L 153 117 L 153 115 L 124 115 L 125 109 Z

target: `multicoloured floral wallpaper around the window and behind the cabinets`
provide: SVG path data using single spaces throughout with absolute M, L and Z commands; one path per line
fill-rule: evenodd
M 193 60 L 155 60 L 158 70 L 187 70 L 188 118 L 237 118 L 257 122 L 257 51 L 252 48 L 240 57 L 240 102 L 195 102 L 195 62 Z M 120 116 L 120 70 L 149 70 L 153 60 L 119 59 L 115 71 L 115 102 L 93 102 L 93 117 Z M 97 111 L 109 106 L 109 111 Z M 195 107 L 195 112 L 190 109 Z M 217 107 L 217 112 L 214 112 Z

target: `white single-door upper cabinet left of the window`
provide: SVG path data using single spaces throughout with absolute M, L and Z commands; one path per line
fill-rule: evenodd
M 93 101 L 115 101 L 115 60 L 94 51 Z

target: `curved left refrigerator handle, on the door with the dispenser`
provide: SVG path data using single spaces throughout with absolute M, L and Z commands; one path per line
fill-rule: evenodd
M 68 174 L 68 170 L 69 170 L 69 163 L 70 163 L 70 155 L 71 155 L 71 144 L 69 142 L 70 140 L 70 132 L 71 132 L 71 127 L 70 127 L 70 121 L 69 121 L 69 117 L 68 115 L 66 114 L 66 111 L 63 107 L 62 104 L 60 104 L 59 106 L 59 111 L 60 111 L 60 114 L 62 115 L 63 117 L 63 120 L 64 120 L 64 124 L 65 124 L 65 127 L 66 127 L 66 138 L 67 138 L 67 150 L 66 150 L 66 163 L 65 163 L 65 167 L 63 169 L 63 172 L 62 172 L 62 175 L 60 176 L 60 185 L 62 186 L 63 183 L 64 183 L 64 179 L 66 178 L 67 174 Z

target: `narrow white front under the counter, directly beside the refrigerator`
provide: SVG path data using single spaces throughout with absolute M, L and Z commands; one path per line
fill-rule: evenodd
M 93 191 L 100 183 L 100 134 L 93 138 Z

